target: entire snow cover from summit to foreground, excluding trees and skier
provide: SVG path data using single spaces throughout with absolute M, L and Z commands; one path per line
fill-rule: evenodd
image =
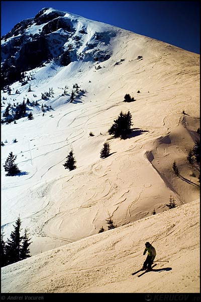
M 3 119 L 8 104 L 11 117 L 29 99 L 25 117 L 2 124 L 4 240 L 19 214 L 32 239 L 32 257 L 3 268 L 2 290 L 198 292 L 199 165 L 186 158 L 199 139 L 199 55 L 53 9 L 18 27 L 2 41 L 3 61 L 25 56 L 23 68 L 32 46 L 41 51 L 43 43 L 50 57 L 41 53 L 27 83 L 2 91 Z M 135 101 L 124 102 L 126 94 Z M 108 133 L 121 111 L 132 115 L 127 139 Z M 105 142 L 111 155 L 101 159 Z M 77 168 L 69 171 L 63 165 L 71 150 Z M 8 177 L 10 152 L 21 173 Z M 168 210 L 170 195 L 177 207 Z M 117 229 L 98 234 L 109 216 Z M 132 276 L 144 243 L 156 236 L 157 260 L 169 263 Z

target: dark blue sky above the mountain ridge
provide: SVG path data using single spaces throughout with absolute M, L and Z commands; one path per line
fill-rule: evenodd
M 2 1 L 2 35 L 52 7 L 200 53 L 198 1 Z

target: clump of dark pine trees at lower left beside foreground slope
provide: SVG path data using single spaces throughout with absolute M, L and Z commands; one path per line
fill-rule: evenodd
M 10 239 L 4 241 L 4 228 L 1 233 L 1 267 L 18 262 L 20 260 L 31 257 L 29 246 L 32 242 L 29 238 L 29 231 L 26 228 L 24 235 L 21 236 L 20 216 L 17 218 L 14 231 L 11 232 Z

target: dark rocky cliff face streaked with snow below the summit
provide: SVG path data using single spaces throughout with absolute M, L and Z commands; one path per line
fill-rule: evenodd
M 112 54 L 105 46 L 109 46 L 114 35 L 99 32 L 91 37 L 91 32 L 75 16 L 42 9 L 2 37 L 2 87 L 19 81 L 22 72 L 50 59 L 64 66 L 74 60 L 103 62 Z M 99 46 L 105 48 L 100 50 Z

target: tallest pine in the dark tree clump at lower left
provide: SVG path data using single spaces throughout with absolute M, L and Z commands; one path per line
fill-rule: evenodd
M 21 232 L 21 219 L 20 216 L 16 220 L 14 226 L 14 231 L 11 232 L 10 239 L 6 243 L 6 255 L 8 259 L 8 264 L 15 263 L 20 261 L 20 245 L 22 237 L 20 236 Z

